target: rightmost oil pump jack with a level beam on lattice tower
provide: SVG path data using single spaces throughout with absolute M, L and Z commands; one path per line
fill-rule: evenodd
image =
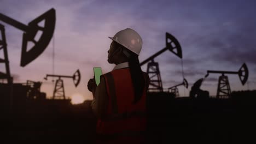
M 218 89 L 216 95 L 217 98 L 230 98 L 231 89 L 229 85 L 229 79 L 228 76 L 224 74 L 238 74 L 242 85 L 245 85 L 249 76 L 248 68 L 245 63 L 243 63 L 242 67 L 238 71 L 207 70 L 207 74 L 205 77 L 207 77 L 210 73 L 222 74 L 221 76 L 219 76 Z

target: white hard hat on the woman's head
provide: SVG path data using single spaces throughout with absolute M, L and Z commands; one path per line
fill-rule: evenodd
M 131 28 L 126 28 L 119 31 L 114 35 L 113 38 L 108 37 L 120 45 L 123 45 L 130 51 L 139 55 L 142 49 L 142 39 L 141 36 Z

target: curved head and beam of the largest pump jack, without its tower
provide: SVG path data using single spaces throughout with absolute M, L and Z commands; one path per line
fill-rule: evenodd
M 11 19 L 8 16 L 5 16 L 0 13 L 0 21 L 8 23 L 11 26 L 14 26 L 21 31 L 24 31 L 23 40 L 22 40 L 22 50 L 21 50 L 21 67 L 25 67 L 27 64 L 31 63 L 36 59 L 43 51 L 46 49 L 48 44 L 51 41 L 51 38 L 54 34 L 55 29 L 55 9 L 50 9 L 46 11 L 46 13 L 40 15 L 28 25 L 24 25 L 23 23 Z M 40 22 L 44 21 L 44 27 L 39 26 Z M 35 40 L 36 35 L 39 31 L 42 31 L 42 35 L 38 41 Z M 34 46 L 27 51 L 28 41 L 31 41 Z

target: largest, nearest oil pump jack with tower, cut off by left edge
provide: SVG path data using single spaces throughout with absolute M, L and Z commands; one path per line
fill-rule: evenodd
M 40 15 L 28 25 L 24 25 L 23 23 L 11 19 L 10 17 L 3 15 L 0 13 L 0 21 L 8 23 L 11 26 L 14 26 L 18 29 L 24 31 L 23 40 L 22 40 L 22 48 L 21 48 L 21 67 L 25 67 L 27 64 L 31 63 L 36 59 L 43 51 L 46 49 L 48 44 L 50 43 L 51 38 L 53 37 L 54 29 L 55 29 L 55 9 L 50 9 L 46 11 L 46 13 Z M 38 23 L 44 21 L 44 27 L 39 26 Z M 9 68 L 9 59 L 7 52 L 7 43 L 5 39 L 4 26 L 0 24 L 0 31 L 2 40 L 0 40 L 0 50 L 4 51 L 4 59 L 0 59 L 0 63 L 5 63 L 6 73 L 0 73 L 0 77 L 3 77 L 8 80 L 8 83 L 11 83 L 10 77 L 10 68 Z M 42 35 L 38 41 L 34 40 L 38 31 L 42 31 Z M 28 41 L 32 41 L 34 46 L 31 47 L 30 50 L 27 51 L 27 43 Z

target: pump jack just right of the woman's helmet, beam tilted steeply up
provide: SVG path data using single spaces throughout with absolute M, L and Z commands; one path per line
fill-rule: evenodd
M 149 92 L 162 92 L 162 80 L 160 76 L 159 64 L 158 62 L 154 61 L 154 58 L 161 55 L 161 53 L 165 52 L 166 50 L 170 50 L 174 55 L 182 58 L 182 49 L 181 45 L 179 44 L 178 40 L 173 37 L 173 35 L 166 33 L 166 47 L 159 52 L 156 52 L 153 56 L 147 58 L 140 65 L 144 65 L 148 63 L 147 73 L 149 75 Z

